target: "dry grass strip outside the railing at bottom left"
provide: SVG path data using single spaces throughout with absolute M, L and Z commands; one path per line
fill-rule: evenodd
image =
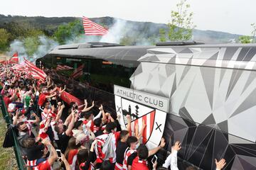
M 6 122 L 0 111 L 0 170 L 18 169 L 14 149 L 12 147 L 3 147 L 6 130 Z

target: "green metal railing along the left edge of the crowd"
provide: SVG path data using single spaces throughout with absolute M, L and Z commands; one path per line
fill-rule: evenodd
M 0 95 L 0 107 L 1 107 L 1 112 L 3 114 L 3 118 L 6 121 L 7 127 L 9 127 L 9 125 L 11 125 L 12 120 L 9 116 L 9 113 L 6 109 L 5 103 L 4 103 L 4 99 L 3 97 Z M 16 136 L 16 132 L 14 132 L 14 130 L 11 130 L 12 135 L 14 135 L 14 153 L 16 156 L 16 161 L 18 164 L 18 169 L 20 170 L 24 170 L 25 168 L 25 162 L 23 160 L 23 158 L 21 157 L 21 149 L 18 145 L 18 140 L 17 140 L 17 136 Z

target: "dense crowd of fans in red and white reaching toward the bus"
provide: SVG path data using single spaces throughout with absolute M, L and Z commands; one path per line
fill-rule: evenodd
M 154 155 L 166 143 L 162 139 L 154 149 L 142 144 L 146 124 L 132 133 L 127 115 L 127 129 L 121 130 L 119 116 L 105 112 L 102 105 L 96 107 L 94 101 L 64 104 L 60 95 L 65 86 L 56 86 L 50 77 L 42 81 L 26 72 L 13 72 L 9 66 L 0 69 L 1 96 L 27 169 L 178 169 L 180 142 L 164 164 L 157 164 Z M 215 160 L 215 164 L 222 169 L 225 160 Z

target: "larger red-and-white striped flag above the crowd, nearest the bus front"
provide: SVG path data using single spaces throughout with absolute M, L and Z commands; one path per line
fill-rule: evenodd
M 31 72 L 31 76 L 34 77 L 35 79 L 46 79 L 47 75 L 43 70 L 39 69 L 34 65 L 32 62 L 29 62 L 24 58 L 24 62 L 26 64 L 26 67 L 28 70 Z

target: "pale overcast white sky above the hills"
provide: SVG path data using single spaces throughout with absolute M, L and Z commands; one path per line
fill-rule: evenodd
M 112 16 L 130 21 L 168 23 L 178 0 L 1 0 L 0 14 L 11 16 Z M 187 0 L 200 30 L 250 35 L 256 0 Z

